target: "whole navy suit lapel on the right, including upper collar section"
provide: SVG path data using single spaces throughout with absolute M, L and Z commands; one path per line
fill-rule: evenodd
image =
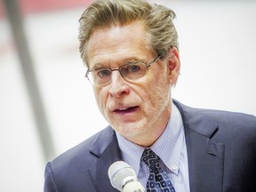
M 174 103 L 180 109 L 185 127 L 190 192 L 220 192 L 225 148 L 212 140 L 218 124 L 198 110 Z

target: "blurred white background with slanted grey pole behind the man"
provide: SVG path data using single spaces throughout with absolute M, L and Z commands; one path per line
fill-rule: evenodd
M 256 1 L 151 2 L 177 14 L 172 97 L 256 116 Z M 78 52 L 78 20 L 91 3 L 0 1 L 0 191 L 43 191 L 45 163 L 108 124 Z

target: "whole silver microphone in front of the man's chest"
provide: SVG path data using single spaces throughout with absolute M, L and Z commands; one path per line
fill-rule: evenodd
M 146 192 L 137 180 L 132 166 L 124 161 L 117 161 L 108 168 L 108 178 L 111 185 L 122 192 Z

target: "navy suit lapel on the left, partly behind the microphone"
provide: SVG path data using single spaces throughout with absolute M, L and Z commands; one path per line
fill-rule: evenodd
M 96 144 L 96 142 L 98 143 Z M 110 181 L 107 179 L 109 166 L 114 162 L 121 160 L 120 149 L 118 148 L 115 132 L 111 127 L 108 127 L 108 132 L 101 134 L 92 146 L 91 153 L 94 156 L 97 156 L 98 159 L 92 164 L 88 172 L 91 175 L 96 191 L 117 192 L 118 190 L 113 188 Z

